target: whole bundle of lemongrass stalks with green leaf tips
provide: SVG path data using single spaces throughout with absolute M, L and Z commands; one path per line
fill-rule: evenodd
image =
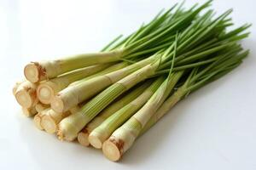
M 230 29 L 231 10 L 215 16 L 210 3 L 176 4 L 99 53 L 31 62 L 15 98 L 39 129 L 118 161 L 179 100 L 247 56 L 239 41 L 249 25 Z

